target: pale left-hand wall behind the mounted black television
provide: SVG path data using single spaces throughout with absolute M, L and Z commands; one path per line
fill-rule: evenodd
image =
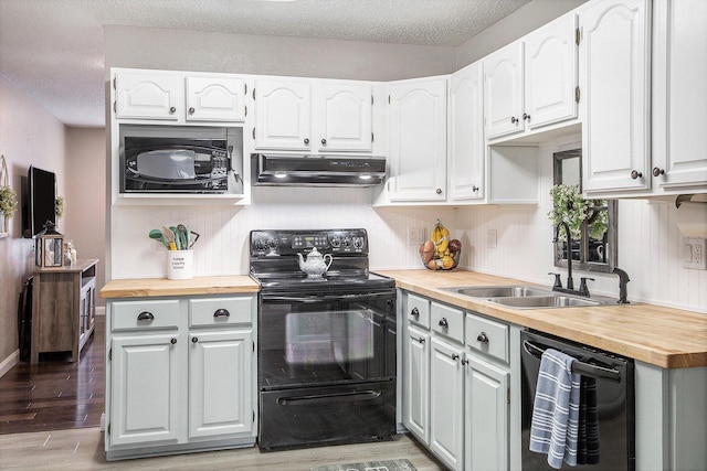
M 10 171 L 10 185 L 18 194 L 30 165 L 56 173 L 59 194 L 66 194 L 66 135 L 64 125 L 41 106 L 13 89 L 0 74 L 0 151 Z M 60 221 L 59 232 L 64 233 Z M 18 349 L 17 310 L 23 280 L 34 270 L 34 244 L 21 238 L 20 210 L 9 238 L 0 239 L 0 375 L 3 362 Z M 10 365 L 11 366 L 11 365 Z

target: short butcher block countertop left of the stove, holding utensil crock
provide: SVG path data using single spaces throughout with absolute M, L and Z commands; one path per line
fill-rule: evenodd
M 257 292 L 258 285 L 247 275 L 197 277 L 190 280 L 136 278 L 110 280 L 101 289 L 101 297 L 146 298 L 155 296 L 238 295 Z

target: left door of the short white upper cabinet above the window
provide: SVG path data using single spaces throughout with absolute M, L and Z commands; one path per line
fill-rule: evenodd
M 525 130 L 523 41 L 484 58 L 486 139 Z

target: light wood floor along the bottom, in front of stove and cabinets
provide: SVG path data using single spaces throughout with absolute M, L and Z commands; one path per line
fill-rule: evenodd
M 261 452 L 257 447 L 106 462 L 98 428 L 0 436 L 1 470 L 238 470 L 306 471 L 312 467 L 409 459 L 420 471 L 444 470 L 413 439 Z

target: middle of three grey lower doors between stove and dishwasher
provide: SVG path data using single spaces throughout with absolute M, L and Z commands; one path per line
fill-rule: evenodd
M 462 470 L 464 467 L 462 347 L 433 338 L 431 355 L 430 448 L 447 467 Z

